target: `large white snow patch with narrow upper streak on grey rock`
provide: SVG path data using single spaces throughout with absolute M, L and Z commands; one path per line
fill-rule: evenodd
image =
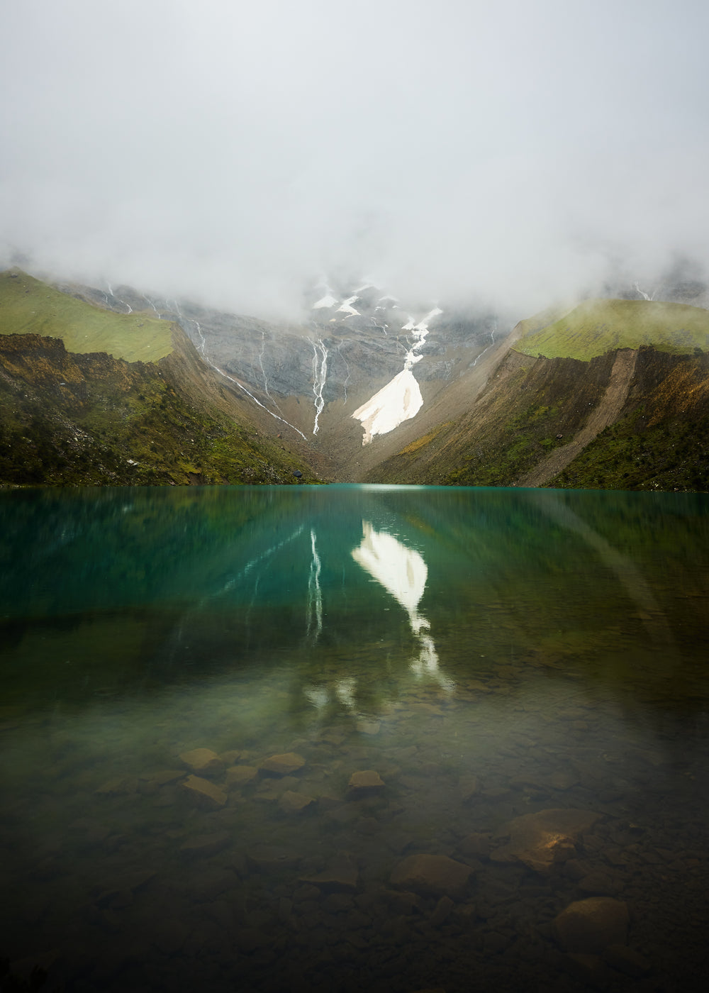
M 403 370 L 382 386 L 371 399 L 358 407 L 353 414 L 355 420 L 360 421 L 364 428 L 362 445 L 368 445 L 374 435 L 388 434 L 403 421 L 415 417 L 423 406 L 421 389 L 411 369 L 423 357 L 419 354 L 419 350 L 426 341 L 429 322 L 442 313 L 442 310 L 434 307 L 418 324 L 414 324 L 414 319 L 409 317 L 401 329 L 412 331 L 415 337 L 413 345 L 404 357 Z

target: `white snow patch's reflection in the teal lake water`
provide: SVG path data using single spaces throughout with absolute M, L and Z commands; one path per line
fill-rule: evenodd
M 361 544 L 353 551 L 353 558 L 408 614 L 420 645 L 411 668 L 417 675 L 428 675 L 444 689 L 453 690 L 455 683 L 440 670 L 436 645 L 429 634 L 431 626 L 418 611 L 428 579 L 426 563 L 415 548 L 407 548 L 385 531 L 375 531 L 369 521 L 362 520 L 361 529 Z

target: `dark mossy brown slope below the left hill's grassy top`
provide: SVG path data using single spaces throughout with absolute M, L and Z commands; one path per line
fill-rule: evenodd
M 0 337 L 0 484 L 288 484 L 296 471 L 314 482 L 255 427 L 193 402 L 167 368 Z

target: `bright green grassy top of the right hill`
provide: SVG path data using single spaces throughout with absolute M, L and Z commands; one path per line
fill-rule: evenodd
M 709 311 L 651 300 L 588 300 L 563 318 L 527 333 L 513 346 L 523 355 L 589 361 L 616 349 L 709 352 Z

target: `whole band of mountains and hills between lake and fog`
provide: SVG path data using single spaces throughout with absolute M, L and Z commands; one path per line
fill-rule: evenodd
M 521 321 L 314 284 L 292 323 L 0 273 L 0 483 L 707 490 L 707 288 Z

